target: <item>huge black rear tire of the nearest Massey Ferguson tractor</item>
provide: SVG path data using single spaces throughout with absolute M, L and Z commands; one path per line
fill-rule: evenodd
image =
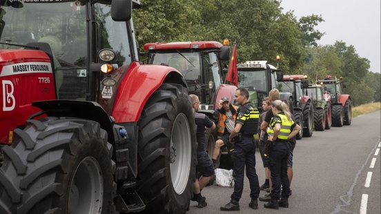
M 195 182 L 194 110 L 181 85 L 163 84 L 138 121 L 137 193 L 144 213 L 186 213 Z

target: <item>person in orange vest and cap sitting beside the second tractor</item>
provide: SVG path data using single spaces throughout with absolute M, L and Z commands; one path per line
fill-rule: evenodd
M 235 126 L 235 117 L 237 107 L 233 106 L 228 97 L 222 97 L 219 100 L 219 109 L 215 110 L 213 116 L 217 121 L 217 141 L 215 142 L 215 150 L 213 151 L 212 161 L 215 166 L 216 159 L 219 155 L 219 150 L 224 146 L 227 153 L 227 144 L 229 142 L 229 135 Z M 216 168 L 216 167 L 215 167 Z

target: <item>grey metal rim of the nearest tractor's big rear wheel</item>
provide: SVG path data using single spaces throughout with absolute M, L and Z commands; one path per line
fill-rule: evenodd
M 171 136 L 171 153 L 173 153 L 175 158 L 171 158 L 170 177 L 172 179 L 173 189 L 178 195 L 181 195 L 188 184 L 192 160 L 190 129 L 188 119 L 183 113 L 177 115 L 173 123 Z

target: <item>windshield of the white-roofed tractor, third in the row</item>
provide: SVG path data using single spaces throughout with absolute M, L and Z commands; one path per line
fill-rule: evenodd
M 238 70 L 238 87 L 266 92 L 266 70 Z

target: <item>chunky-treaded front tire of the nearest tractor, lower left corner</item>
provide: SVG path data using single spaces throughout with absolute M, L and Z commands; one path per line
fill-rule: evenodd
M 116 213 L 115 163 L 95 121 L 43 117 L 14 130 L 0 168 L 0 213 Z

